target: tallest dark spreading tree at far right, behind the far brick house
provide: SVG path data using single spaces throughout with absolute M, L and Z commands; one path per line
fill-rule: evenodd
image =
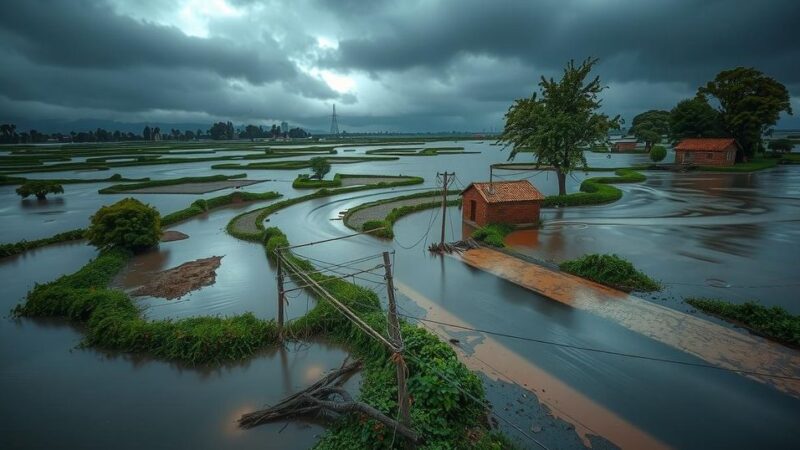
M 739 160 L 763 149 L 761 136 L 778 122 L 781 112 L 792 114 L 786 87 L 752 67 L 723 70 L 698 94 L 719 102 L 722 126 L 743 150 Z

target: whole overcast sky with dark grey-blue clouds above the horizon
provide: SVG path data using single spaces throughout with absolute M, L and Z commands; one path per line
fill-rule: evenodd
M 3 0 L 0 121 L 490 130 L 540 75 L 600 58 L 604 110 L 670 109 L 720 70 L 784 83 L 797 0 Z

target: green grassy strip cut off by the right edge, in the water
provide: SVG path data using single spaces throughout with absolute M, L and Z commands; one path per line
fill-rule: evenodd
M 800 316 L 779 306 L 767 307 L 756 302 L 741 305 L 710 298 L 688 298 L 686 303 L 713 316 L 741 325 L 755 334 L 800 347 Z

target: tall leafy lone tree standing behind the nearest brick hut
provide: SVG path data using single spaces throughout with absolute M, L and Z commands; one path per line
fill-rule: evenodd
M 576 65 L 570 61 L 561 80 L 542 77 L 541 95 L 514 102 L 506 113 L 506 124 L 500 141 L 511 145 L 509 159 L 521 149 L 533 149 L 536 165 L 549 165 L 556 171 L 558 193 L 567 193 L 567 174 L 577 167 L 586 167 L 581 147 L 608 139 L 610 129 L 618 129 L 619 116 L 609 118 L 598 113 L 598 98 L 605 87 L 600 78 L 586 80 L 597 59 L 588 58 Z

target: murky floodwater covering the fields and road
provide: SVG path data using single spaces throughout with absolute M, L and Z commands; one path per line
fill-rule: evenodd
M 485 181 L 488 165 L 503 162 L 507 156 L 507 150 L 501 152 L 489 142 L 435 142 L 425 146 L 451 145 L 483 153 L 335 165 L 332 173 L 419 175 L 426 182 L 315 199 L 280 211 L 266 225 L 280 226 L 293 243 L 349 234 L 352 231 L 336 220 L 341 211 L 367 201 L 430 189 L 435 186 L 437 171 L 456 172 L 453 189 L 471 181 Z M 378 147 L 354 147 L 356 151 L 348 155 Z M 644 162 L 646 156 L 587 154 L 587 159 L 595 167 L 619 167 Z M 520 155 L 518 161 L 526 161 L 526 155 Z M 271 181 L 245 190 L 276 190 L 287 197 L 304 193 L 290 185 L 298 172 L 306 171 L 212 171 L 208 168 L 211 164 L 41 176 L 95 178 L 118 172 L 125 177 L 159 179 L 247 172 L 248 179 Z M 568 189 L 574 191 L 583 179 L 597 175 L 602 174 L 575 173 L 568 178 Z M 647 175 L 645 183 L 618 185 L 625 195 L 612 205 L 544 210 L 543 228 L 510 236 L 513 249 L 555 262 L 586 252 L 617 253 L 667 285 L 665 293 L 647 297 L 648 301 L 678 311 L 688 310 L 681 303 L 684 296 L 699 295 L 733 301 L 755 298 L 798 312 L 793 295 L 797 272 L 792 262 L 800 250 L 800 168 L 780 167 L 748 175 Z M 545 194 L 556 191 L 555 177 L 544 171 L 498 170 L 495 177 L 528 178 Z M 0 187 L 0 213 L 5 225 L 2 240 L 32 239 L 85 226 L 100 205 L 124 197 L 97 195 L 96 190 L 105 185 L 67 185 L 60 200 L 54 197 L 44 204 L 20 202 L 13 188 Z M 227 192 L 135 197 L 170 212 L 196 198 Z M 258 317 L 274 317 L 275 274 L 263 248 L 238 241 L 224 230 L 233 216 L 265 204 L 235 205 L 175 225 L 172 229 L 190 238 L 164 243 L 157 251 L 135 258 L 116 283 L 133 289 L 155 271 L 198 258 L 224 256 L 214 285 L 178 300 L 141 298 L 138 301 L 144 314 L 161 319 L 252 311 Z M 297 253 L 324 265 L 394 250 L 397 285 L 403 287 L 398 301 L 401 313 L 412 322 L 428 318 L 514 336 L 704 363 L 613 318 L 552 301 L 471 268 L 457 258 L 431 257 L 425 248 L 438 240 L 440 230 L 439 213 L 423 211 L 395 225 L 394 242 L 359 236 L 304 247 Z M 445 230 L 448 240 L 461 237 L 458 208 L 448 208 Z M 91 248 L 71 244 L 0 261 L 0 279 L 10 289 L 3 305 L 10 309 L 34 282 L 71 272 L 92 255 Z M 364 264 L 368 263 L 361 263 L 362 268 Z M 365 274 L 356 281 L 385 297 L 380 276 Z M 290 319 L 313 306 L 313 300 L 304 293 L 296 295 L 289 299 Z M 800 438 L 796 427 L 800 423 L 800 400 L 735 373 L 587 353 L 425 324 L 437 333 L 459 339 L 462 359 L 485 372 L 487 395 L 495 403 L 497 414 L 552 446 L 576 448 L 592 442 L 596 448 L 612 444 L 624 448 L 793 448 Z M 119 442 L 110 441 L 111 437 L 129 435 L 129 430 L 136 431 L 130 447 L 306 448 L 319 428 L 292 423 L 279 433 L 282 424 L 246 432 L 226 426 L 240 412 L 282 397 L 291 390 L 286 386 L 296 388 L 313 381 L 305 376 L 310 367 L 316 372 L 338 367 L 344 357 L 341 349 L 312 344 L 290 348 L 285 361 L 283 355 L 265 354 L 245 365 L 209 374 L 147 359 L 74 349 L 80 333 L 63 323 L 5 319 L 0 333 L 0 376 L 7 399 L 0 422 L 4 448 L 54 446 L 54 442 L 45 440 L 59 435 L 71 447 L 119 446 Z M 284 375 L 287 371 L 289 375 Z M 286 379 L 291 382 L 286 384 Z M 523 394 L 527 397 L 522 398 Z M 544 406 L 531 414 L 516 405 L 504 405 L 506 401 L 521 404 L 523 400 Z M 554 417 L 544 414 L 546 410 Z M 42 433 L 42 423 L 52 424 L 55 431 Z M 513 427 L 502 421 L 500 425 L 523 447 L 534 447 Z M 542 426 L 543 431 L 534 434 L 532 426 Z M 229 434 L 231 430 L 233 434 Z

